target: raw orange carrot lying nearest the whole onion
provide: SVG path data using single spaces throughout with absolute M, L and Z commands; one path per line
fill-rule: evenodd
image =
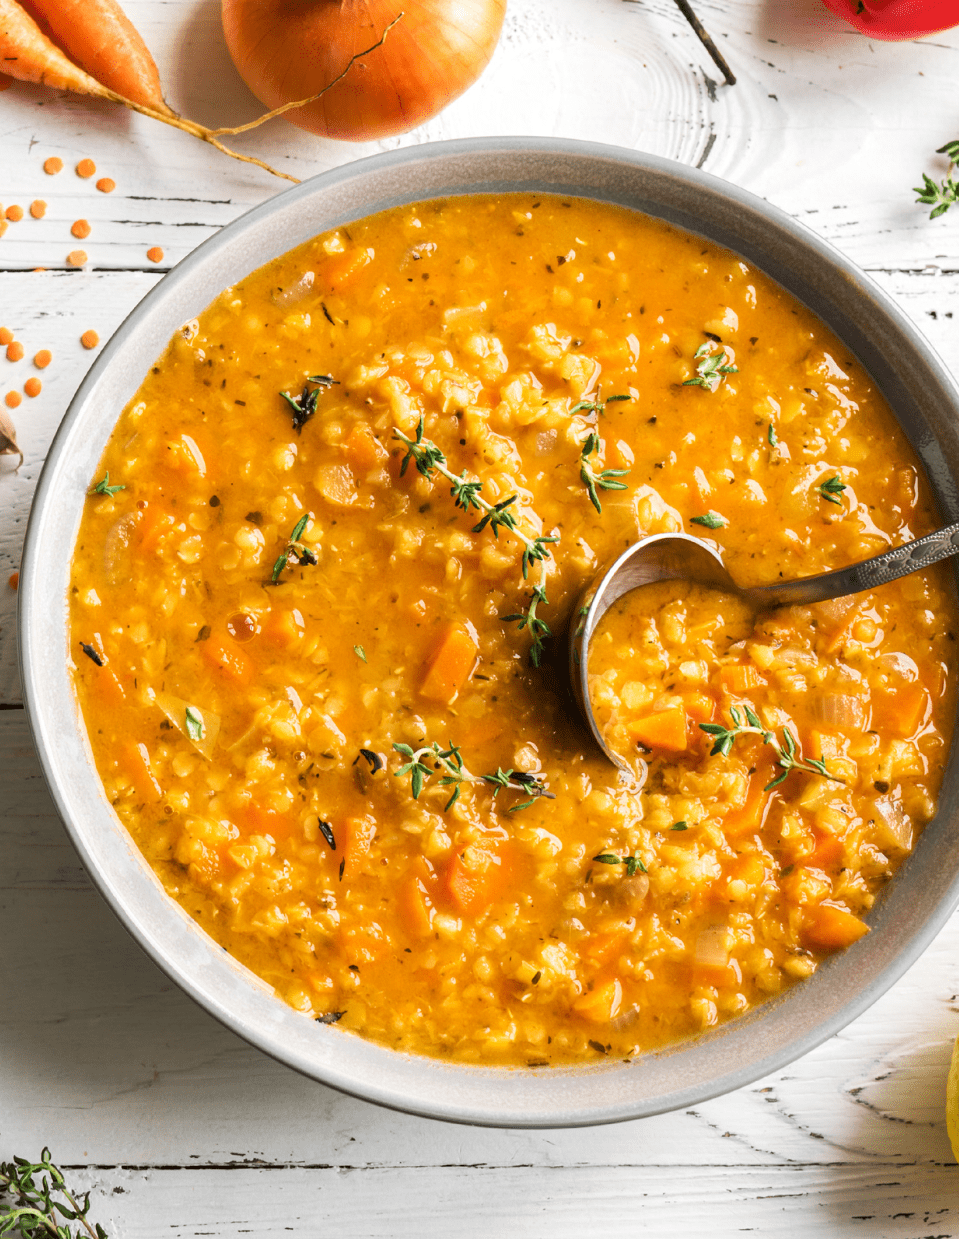
M 43 33 L 102 85 L 170 113 L 152 56 L 116 0 L 21 0 Z

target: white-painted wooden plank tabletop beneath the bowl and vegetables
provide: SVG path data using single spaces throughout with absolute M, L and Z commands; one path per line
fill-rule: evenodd
M 959 31 L 870 43 L 819 0 L 698 0 L 740 81 L 673 0 L 510 0 L 482 81 L 398 145 L 481 134 L 617 142 L 705 167 L 802 219 L 904 307 L 959 370 L 959 208 L 913 204 L 959 134 Z M 259 109 L 222 45 L 218 0 L 128 0 L 171 103 L 212 124 Z M 244 140 L 295 176 L 392 142 L 275 123 Z M 64 171 L 46 176 L 59 155 Z M 73 166 L 95 160 L 112 195 Z M 95 178 L 94 178 L 95 180 Z M 0 398 L 53 352 L 0 460 L 0 1160 L 47 1144 L 110 1235 L 673 1237 L 959 1234 L 943 1094 L 959 1030 L 959 919 L 871 1011 L 778 1075 L 686 1113 L 515 1132 L 411 1119 L 278 1066 L 198 1010 L 114 922 L 53 813 L 19 709 L 16 569 L 46 447 L 93 358 L 164 270 L 282 182 L 110 105 L 0 94 Z M 81 243 L 74 219 L 93 225 Z M 68 270 L 81 247 L 89 265 Z M 146 258 L 160 245 L 165 259 Z M 46 268 L 35 271 L 35 268 Z

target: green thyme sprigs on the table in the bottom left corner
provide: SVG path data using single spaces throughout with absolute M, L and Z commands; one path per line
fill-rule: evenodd
M 51 1161 L 48 1149 L 41 1152 L 38 1162 L 28 1162 L 25 1157 L 0 1162 L 0 1196 L 7 1196 L 15 1202 L 12 1209 L 5 1212 L 0 1206 L 0 1235 L 82 1239 L 85 1234 L 88 1239 L 107 1239 L 107 1232 L 99 1223 L 92 1227 L 87 1220 L 90 1193 L 84 1192 L 79 1198 L 73 1196 L 62 1171 Z M 57 1196 L 63 1199 L 57 1199 Z M 81 1225 L 74 1230 L 61 1224 L 58 1213 L 67 1222 L 79 1222 Z

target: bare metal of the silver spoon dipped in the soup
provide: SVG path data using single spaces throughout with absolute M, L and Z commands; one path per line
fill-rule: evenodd
M 715 586 L 726 593 L 737 593 L 756 607 L 802 606 L 847 593 L 862 593 L 955 554 L 959 554 L 959 524 L 937 529 L 926 538 L 918 538 L 882 555 L 874 555 L 860 564 L 840 567 L 835 572 L 823 572 L 802 581 L 779 581 L 742 589 L 726 571 L 719 553 L 699 538 L 689 534 L 653 534 L 652 538 L 643 538 L 598 574 L 580 597 L 569 638 L 570 683 L 576 704 L 606 757 L 621 769 L 628 769 L 623 758 L 607 747 L 597 726 L 590 701 L 587 669 L 590 642 L 600 621 L 617 598 L 641 585 L 652 585 L 654 581 L 695 581 L 698 585 Z

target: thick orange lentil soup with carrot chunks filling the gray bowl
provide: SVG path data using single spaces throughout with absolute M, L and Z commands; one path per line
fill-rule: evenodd
M 555 691 L 540 624 L 647 533 L 748 585 L 935 525 L 856 361 L 698 237 L 529 196 L 320 237 L 183 328 L 93 483 L 71 606 L 107 794 L 323 1022 L 466 1062 L 641 1052 L 855 940 L 934 812 L 939 570 L 760 617 L 634 595 L 591 670 L 636 777 Z M 700 722 L 753 716 L 772 743 L 710 753 Z M 784 729 L 807 768 L 767 789 Z

